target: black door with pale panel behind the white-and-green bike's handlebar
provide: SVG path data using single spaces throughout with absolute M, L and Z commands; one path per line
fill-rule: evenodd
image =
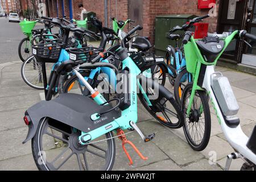
M 220 1 L 217 32 L 233 32 L 245 27 L 245 14 L 248 0 L 225 0 Z M 221 56 L 222 60 L 237 64 L 241 60 L 242 43 L 233 40 Z

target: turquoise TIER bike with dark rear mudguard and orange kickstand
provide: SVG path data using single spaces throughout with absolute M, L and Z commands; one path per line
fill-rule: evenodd
M 135 27 L 133 30 L 128 32 L 128 35 L 133 34 L 133 32 L 137 31 L 139 28 L 141 27 Z M 77 28 L 70 28 L 70 30 L 78 31 Z M 61 47 L 62 45 L 59 44 L 58 46 Z M 60 52 L 61 51 L 64 51 L 64 49 L 61 49 Z M 79 72 L 79 69 L 109 67 L 113 68 L 114 71 L 118 73 L 118 68 L 113 64 L 99 63 L 102 58 L 105 59 L 110 55 L 118 56 L 122 60 L 122 73 L 126 76 L 120 81 L 128 83 L 129 87 L 125 86 L 125 92 L 121 93 L 119 97 L 106 101 L 96 89 L 90 86 L 88 81 L 86 81 L 84 76 Z M 122 141 L 123 150 L 129 158 L 130 164 L 133 164 L 133 160 L 131 160 L 130 155 L 125 148 L 125 144 L 130 144 L 138 155 L 142 159 L 146 160 L 147 158 L 138 151 L 137 147 L 127 140 L 123 130 L 129 129 L 137 131 L 144 142 L 149 142 L 155 137 L 155 134 L 145 136 L 136 125 L 138 118 L 137 84 L 141 85 L 141 82 L 145 79 L 150 81 L 150 78 L 143 76 L 138 78 L 141 71 L 134 61 L 128 56 L 126 49 L 119 47 L 114 53 L 110 51 L 100 53 L 98 56 L 90 60 L 90 63 L 84 63 L 84 60 L 69 60 L 63 61 L 60 65 L 56 65 L 52 72 L 49 89 L 46 93 L 47 100 L 50 100 L 52 97 L 52 93 L 50 91 L 55 88 L 57 77 L 59 77 L 60 74 L 65 75 L 69 72 L 74 72 L 76 74 L 80 81 L 89 90 L 92 99 L 84 97 L 81 94 L 61 94 L 55 100 L 41 101 L 26 111 L 24 121 L 30 130 L 28 131 L 27 138 L 23 143 L 32 139 L 32 154 L 34 156 L 36 166 L 41 170 L 60 169 L 74 155 L 74 160 L 77 161 L 77 167 L 80 170 L 92 169 L 93 167 L 96 169 L 100 168 L 101 170 L 110 170 L 113 167 L 115 159 L 114 138 L 117 137 Z M 130 77 L 127 77 L 129 74 Z M 160 100 L 170 100 L 172 98 L 172 94 L 162 85 L 159 85 L 158 82 L 154 81 L 152 81 L 152 83 L 154 84 L 154 88 L 159 87 Z M 142 86 L 139 86 L 139 88 L 142 90 Z M 146 95 L 143 96 L 147 97 Z M 110 103 L 114 101 L 117 101 L 117 105 L 110 105 Z M 176 108 L 176 119 L 179 119 L 180 122 L 182 122 L 183 119 L 183 115 L 180 113 L 179 107 Z M 117 133 L 116 137 L 113 136 L 113 131 Z M 55 142 L 59 148 L 54 147 L 52 150 L 47 150 L 48 148 L 43 147 L 43 135 L 55 138 Z M 49 140 L 46 140 L 46 146 L 48 143 L 47 141 Z M 102 142 L 105 142 L 105 144 L 102 144 Z M 55 155 L 56 157 L 51 157 L 51 151 L 59 151 L 61 147 L 64 147 L 64 150 L 61 151 L 59 155 Z M 60 157 L 64 158 L 63 155 L 69 150 L 69 148 L 72 150 L 71 154 L 67 154 L 68 156 L 65 157 L 63 162 L 55 165 L 56 161 L 60 159 Z M 90 148 L 94 148 L 94 151 Z M 90 155 L 90 158 L 88 155 Z M 45 156 L 47 156 L 47 158 Z M 81 158 L 83 161 L 81 161 Z M 90 160 L 90 162 L 88 162 L 88 160 Z M 39 163 L 39 161 L 42 163 Z M 72 160 L 72 169 L 74 166 L 73 162 L 74 161 Z M 66 167 L 70 167 L 70 165 Z

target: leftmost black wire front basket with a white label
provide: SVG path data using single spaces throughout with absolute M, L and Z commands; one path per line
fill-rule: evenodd
M 32 46 L 32 53 L 36 60 L 45 63 L 56 63 L 59 60 L 63 43 L 45 43 Z

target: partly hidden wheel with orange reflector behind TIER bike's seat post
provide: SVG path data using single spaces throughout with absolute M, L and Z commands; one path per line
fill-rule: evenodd
M 89 70 L 80 71 L 80 73 L 83 77 L 88 77 L 90 75 Z M 92 81 L 91 85 L 93 88 L 97 88 L 98 84 L 102 81 L 102 80 L 98 80 L 97 77 L 98 76 L 96 75 L 95 79 Z M 88 90 L 76 75 L 73 75 L 66 80 L 63 79 L 60 82 L 63 82 L 63 84 L 61 84 L 63 85 L 63 89 L 61 93 L 77 93 L 77 94 L 84 95 L 84 93 L 86 93 L 86 90 Z M 90 94 L 89 92 L 87 93 Z M 105 98 L 105 100 L 108 101 L 109 92 L 103 93 L 103 97 Z

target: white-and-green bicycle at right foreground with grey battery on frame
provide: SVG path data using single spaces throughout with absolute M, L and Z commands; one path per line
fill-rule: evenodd
M 185 137 L 194 150 L 200 151 L 207 146 L 210 136 L 208 95 L 221 129 L 229 144 L 236 151 L 234 154 L 228 156 L 225 169 L 229 169 L 231 160 L 236 158 L 245 159 L 246 163 L 250 164 L 249 166 L 254 169 L 256 164 L 256 128 L 250 139 L 243 133 L 240 126 L 240 119 L 237 117 L 239 106 L 228 78 L 222 76 L 220 72 L 214 71 L 217 60 L 230 42 L 233 39 L 246 42 L 243 38 L 256 40 L 255 35 L 248 34 L 245 30 L 236 30 L 230 35 L 228 32 L 218 34 L 217 36 L 216 34 L 214 36 L 208 35 L 203 40 L 193 39 L 191 32 L 187 31 L 183 39 L 187 71 L 193 75 L 193 82 L 185 86 L 181 98 L 181 109 L 185 117 Z M 199 98 L 201 101 L 198 100 Z M 199 125 L 199 119 L 203 114 L 207 118 L 205 119 L 206 130 L 199 143 L 197 142 L 199 138 L 195 139 L 193 137 L 199 135 L 199 130 L 194 130 L 194 133 L 191 134 L 189 132 L 189 125 L 192 125 L 190 127 Z

